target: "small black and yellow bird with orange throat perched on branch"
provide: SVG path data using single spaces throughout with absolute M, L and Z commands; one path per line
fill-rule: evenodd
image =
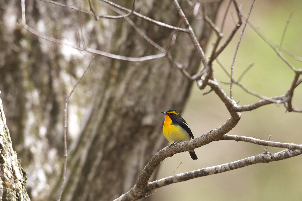
M 177 110 L 168 110 L 162 112 L 165 114 L 164 126 L 162 127 L 162 132 L 164 133 L 165 138 L 172 143 L 172 146 L 175 143 L 182 141 L 191 140 L 194 138 L 193 133 L 188 126 L 187 122 L 180 116 Z M 191 158 L 197 160 L 197 155 L 194 150 L 189 150 Z

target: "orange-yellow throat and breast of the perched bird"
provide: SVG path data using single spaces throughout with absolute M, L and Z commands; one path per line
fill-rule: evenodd
M 165 115 L 164 126 L 162 127 L 162 132 L 165 138 L 170 142 L 179 142 L 190 140 L 191 137 L 181 126 L 172 124 L 172 120 L 169 116 Z

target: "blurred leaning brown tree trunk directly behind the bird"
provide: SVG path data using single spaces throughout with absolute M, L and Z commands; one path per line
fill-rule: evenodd
M 183 3 L 184 11 L 188 10 Z M 171 1 L 152 1 L 146 9 L 139 2 L 136 11 L 176 26 L 180 20 Z M 219 2 L 210 4 L 208 14 L 215 18 Z M 163 11 L 163 8 L 165 10 Z M 144 33 L 165 47 L 171 30 L 132 18 Z M 192 19 L 191 19 L 192 20 Z M 214 20 L 214 19 L 213 19 Z M 159 51 L 143 39 L 126 20 L 115 23 L 111 52 L 141 57 Z M 191 24 L 205 48 L 210 36 L 202 20 Z M 122 37 L 121 37 L 122 35 Z M 185 34 L 178 34 L 172 55 L 197 72 L 200 58 Z M 192 82 L 175 69 L 166 58 L 140 63 L 107 58 L 98 90 L 76 146 L 69 153 L 68 176 L 63 200 L 112 200 L 130 190 L 149 159 L 167 141 L 162 135 L 161 111 L 182 111 Z M 56 195 L 54 193 L 53 195 Z

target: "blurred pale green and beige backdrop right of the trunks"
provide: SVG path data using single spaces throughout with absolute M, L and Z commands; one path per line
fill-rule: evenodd
M 247 16 L 252 1 L 238 1 L 243 4 L 242 11 Z M 220 26 L 226 5 L 220 7 L 216 24 Z M 282 46 L 294 55 L 302 56 L 302 2 L 301 1 L 255 1 L 249 21 L 262 29 L 276 42 L 280 43 L 288 17 L 293 11 Z M 231 11 L 236 12 L 231 6 Z M 237 20 L 236 20 L 237 21 Z M 224 28 L 224 38 L 234 27 L 229 13 Z M 231 45 L 229 45 L 219 60 L 225 68 L 230 69 L 234 51 L 242 27 L 239 28 Z M 210 41 L 216 37 L 212 34 Z M 212 49 L 212 42 L 207 47 L 207 55 Z M 296 67 L 301 68 L 301 62 L 288 57 Z M 241 84 L 248 89 L 266 97 L 279 96 L 289 89 L 294 78 L 294 72 L 278 57 L 273 49 L 261 39 L 251 27 L 247 26 L 239 46 L 235 65 L 234 78 L 255 62 L 255 65 L 243 77 Z M 218 81 L 230 82 L 217 62 L 214 62 L 214 75 Z M 229 86 L 222 85 L 229 94 Z M 299 86 L 294 93 L 294 107 L 302 108 L 302 90 Z M 193 84 L 191 97 L 182 117 L 187 121 L 194 137 L 199 137 L 222 125 L 229 117 L 223 103 L 215 93 L 202 95 Z M 239 105 L 257 102 L 259 98 L 252 96 L 237 86 L 233 87 L 233 96 Z M 175 108 L 177 109 L 177 108 Z M 162 117 L 164 120 L 164 117 Z M 266 105 L 253 111 L 242 113 L 239 124 L 228 134 L 242 135 L 271 141 L 286 143 L 302 143 L 301 113 L 286 112 L 283 105 Z M 264 151 L 264 146 L 246 142 L 220 141 L 195 149 L 198 160 L 193 161 L 188 152 L 176 154 L 165 159 L 159 167 L 157 179 L 168 177 L 182 162 L 174 174 L 195 169 L 206 168 L 223 163 L 233 162 Z M 268 147 L 268 152 L 281 151 L 280 148 Z M 162 187 L 154 193 L 153 200 L 301 200 L 302 199 L 302 156 L 271 162 L 250 165 L 245 168 L 214 174 L 190 181 Z

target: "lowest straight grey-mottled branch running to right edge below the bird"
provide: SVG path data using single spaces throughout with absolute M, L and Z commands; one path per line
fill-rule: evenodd
M 185 172 L 181 174 L 175 174 L 170 177 L 162 178 L 153 182 L 148 183 L 147 191 L 154 190 L 159 187 L 167 186 L 169 184 L 174 184 L 181 181 L 188 181 L 193 178 L 204 177 L 211 174 L 218 174 L 238 168 L 243 168 L 248 165 L 253 165 L 256 163 L 268 163 L 273 161 L 280 161 L 294 156 L 302 154 L 301 150 L 283 150 L 277 153 L 267 153 L 251 156 L 245 159 L 241 159 L 235 162 L 230 162 L 222 165 L 216 165 L 208 168 L 202 168 L 199 170 L 194 170 L 191 172 Z

